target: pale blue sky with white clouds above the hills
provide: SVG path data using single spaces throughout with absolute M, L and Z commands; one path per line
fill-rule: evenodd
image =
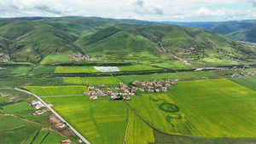
M 0 17 L 96 16 L 149 21 L 254 20 L 256 0 L 1 0 Z

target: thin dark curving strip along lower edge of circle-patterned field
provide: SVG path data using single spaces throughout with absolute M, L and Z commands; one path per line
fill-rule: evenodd
M 148 121 L 147 121 L 146 119 L 144 119 L 139 113 L 137 113 L 137 112 L 135 111 L 135 109 L 133 109 L 128 103 L 127 103 L 127 105 L 128 105 L 128 107 L 131 108 L 131 110 L 132 110 L 133 112 L 135 112 L 135 113 L 137 114 L 138 117 L 142 118 L 143 121 L 144 121 L 146 124 L 148 124 L 151 128 L 153 128 L 154 130 L 157 130 L 157 131 L 159 131 L 160 133 L 165 134 L 165 135 L 181 136 L 181 137 L 191 137 L 191 138 L 199 138 L 199 139 L 209 139 L 209 140 L 212 140 L 212 139 L 218 139 L 218 140 L 221 140 L 221 139 L 224 139 L 224 140 L 228 140 L 228 139 L 230 139 L 230 140 L 235 140 L 235 139 L 236 139 L 236 140 L 254 140 L 254 139 L 250 139 L 250 138 L 247 139 L 247 138 L 201 137 L 201 136 L 177 135 L 177 134 L 166 133 L 166 132 L 164 132 L 164 131 L 162 131 L 162 130 L 159 130 L 159 129 L 155 128 L 154 125 L 148 123 Z

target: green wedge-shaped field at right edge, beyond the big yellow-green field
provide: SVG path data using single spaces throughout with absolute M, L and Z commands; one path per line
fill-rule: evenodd
M 233 82 L 246 86 L 247 88 L 256 90 L 256 78 L 231 78 Z

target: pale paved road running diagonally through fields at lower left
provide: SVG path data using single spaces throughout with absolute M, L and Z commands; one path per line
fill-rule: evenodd
M 19 90 L 19 91 L 22 91 L 22 92 L 25 92 L 25 93 L 30 94 L 30 95 L 34 95 L 36 98 L 38 98 L 39 101 L 41 101 L 41 102 L 44 104 L 44 106 L 46 106 L 47 108 L 49 108 L 49 110 L 50 110 L 51 112 L 53 112 L 53 113 L 55 114 L 55 116 L 57 116 L 58 118 L 60 118 L 63 123 L 66 123 L 67 126 L 68 126 L 71 130 L 73 130 L 73 132 L 74 132 L 76 135 L 78 135 L 82 141 L 84 141 L 84 142 L 87 143 L 87 144 L 90 144 L 90 142 L 87 141 L 87 140 L 84 138 L 83 135 L 81 135 L 77 130 L 75 130 L 75 129 L 73 128 L 73 126 L 71 126 L 70 124 L 68 124 L 67 121 L 66 121 L 64 118 L 62 118 L 57 112 L 55 112 L 54 109 L 52 109 L 51 107 L 49 107 L 49 106 L 47 105 L 47 103 L 44 102 L 38 95 L 35 95 L 35 94 L 33 94 L 32 92 L 29 92 L 29 91 L 26 91 L 26 90 L 23 90 L 23 89 L 17 89 L 17 88 L 15 88 L 15 89 L 16 89 L 16 90 Z

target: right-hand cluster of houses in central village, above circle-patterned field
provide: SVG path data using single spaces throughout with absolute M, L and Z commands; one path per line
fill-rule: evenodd
M 167 92 L 168 87 L 171 87 L 172 85 L 176 85 L 175 81 L 177 82 L 178 80 L 172 80 L 172 79 L 168 79 L 165 82 L 160 82 L 157 80 L 154 80 L 153 82 L 140 82 L 140 81 L 134 81 L 132 84 L 134 85 L 142 85 L 143 88 L 138 88 L 138 87 L 133 87 L 132 90 L 134 90 L 134 92 L 136 92 L 137 90 L 140 90 L 141 92 L 145 92 L 146 90 L 148 90 L 148 92 Z

